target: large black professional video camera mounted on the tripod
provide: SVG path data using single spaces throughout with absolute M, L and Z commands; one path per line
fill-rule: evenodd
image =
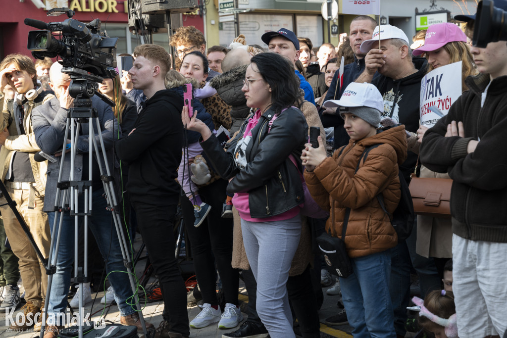
M 92 82 L 102 82 L 103 78 L 114 78 L 116 67 L 116 44 L 118 37 L 108 37 L 100 30 L 100 20 L 83 23 L 72 17 L 76 14 L 68 8 L 54 8 L 48 16 L 66 14 L 68 19 L 62 22 L 50 22 L 25 19 L 25 24 L 44 30 L 32 30 L 28 33 L 28 50 L 38 59 L 60 56 L 62 72 L 69 74 L 74 86 L 70 95 L 81 93 L 92 97 L 96 87 Z M 59 32 L 57 40 L 52 32 Z M 84 79 L 84 81 L 76 81 Z M 75 95 L 73 95 L 75 94 Z

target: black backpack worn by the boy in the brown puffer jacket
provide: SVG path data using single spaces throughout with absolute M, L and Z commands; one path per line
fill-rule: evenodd
M 364 159 L 363 163 L 366 161 L 368 157 L 368 153 L 370 153 L 371 149 L 378 147 L 380 144 L 372 145 L 365 149 L 363 155 L 357 162 L 357 169 L 359 169 L 359 164 L 361 163 L 361 159 Z M 410 234 L 412 233 L 412 228 L 414 227 L 414 205 L 412 204 L 412 196 L 410 195 L 409 186 L 403 174 L 400 170 L 398 170 L 398 177 L 400 178 L 400 203 L 394 209 L 392 214 L 388 213 L 385 205 L 384 205 L 384 196 L 382 193 L 377 195 L 377 200 L 379 201 L 380 207 L 384 212 L 389 216 L 391 224 L 398 235 L 398 243 L 405 241 Z

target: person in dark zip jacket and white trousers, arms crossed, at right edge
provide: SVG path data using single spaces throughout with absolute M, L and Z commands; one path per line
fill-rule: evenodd
M 507 2 L 495 1 L 507 9 Z M 463 15 L 467 31 L 476 16 Z M 469 35 L 469 34 L 467 34 Z M 472 37 L 472 36 L 469 36 Z M 427 130 L 421 162 L 453 179 L 453 292 L 461 338 L 505 336 L 507 329 L 507 45 L 472 47 L 479 74 L 469 91 Z

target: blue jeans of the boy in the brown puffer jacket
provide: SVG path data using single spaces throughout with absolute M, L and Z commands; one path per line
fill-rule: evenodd
M 354 338 L 396 336 L 393 326 L 389 279 L 391 253 L 386 250 L 352 258 L 353 273 L 340 277 L 347 319 Z

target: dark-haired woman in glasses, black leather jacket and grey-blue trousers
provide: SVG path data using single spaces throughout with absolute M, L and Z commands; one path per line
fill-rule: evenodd
M 301 176 L 289 155 L 300 156 L 308 139 L 294 68 L 282 56 L 261 53 L 246 69 L 246 104 L 258 108 L 224 152 L 206 125 L 182 111 L 183 124 L 202 135 L 204 153 L 241 217 L 250 268 L 257 281 L 257 311 L 271 337 L 294 337 L 286 282 L 301 234 Z M 275 273 L 276 272 L 276 273 Z

